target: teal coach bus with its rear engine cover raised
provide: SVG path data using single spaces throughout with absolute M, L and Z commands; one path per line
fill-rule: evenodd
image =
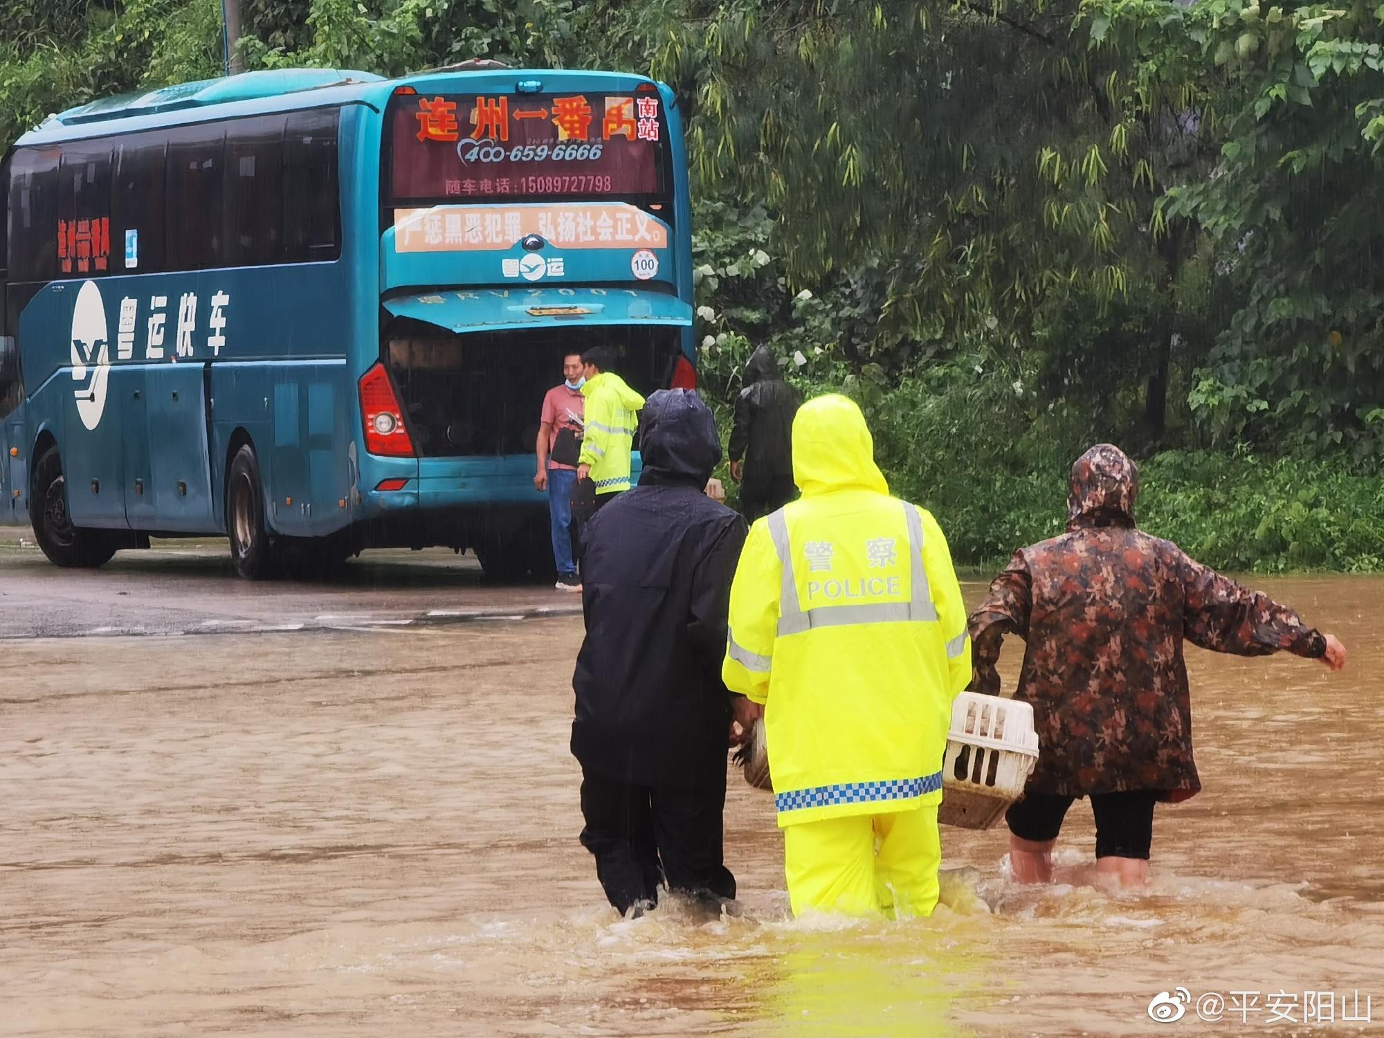
M 545 576 L 562 356 L 695 386 L 668 87 L 493 62 L 252 72 L 50 116 L 0 163 L 0 522 L 60 566 L 226 536 Z

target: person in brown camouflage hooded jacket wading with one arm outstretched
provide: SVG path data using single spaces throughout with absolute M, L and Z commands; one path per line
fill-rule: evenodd
M 1139 531 L 1138 493 L 1133 461 L 1118 447 L 1092 447 L 1071 469 L 1067 533 L 1016 552 L 970 617 L 978 692 L 999 692 L 1005 634 L 1027 644 L 1014 698 L 1032 703 L 1039 757 L 1006 815 L 1020 882 L 1052 879 L 1062 819 L 1088 796 L 1098 871 L 1147 882 L 1154 801 L 1201 789 L 1183 639 L 1215 652 L 1283 649 L 1331 670 L 1345 666 L 1333 635 Z

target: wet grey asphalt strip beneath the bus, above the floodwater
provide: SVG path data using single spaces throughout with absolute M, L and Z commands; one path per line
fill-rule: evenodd
M 28 529 L 0 527 L 0 638 L 371 630 L 573 616 L 580 595 L 487 584 L 471 555 L 372 551 L 329 580 L 253 583 L 221 540 L 155 541 L 100 570 L 53 566 Z

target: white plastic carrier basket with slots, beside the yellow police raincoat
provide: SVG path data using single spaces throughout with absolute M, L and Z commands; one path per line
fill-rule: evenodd
M 962 692 L 952 702 L 937 821 L 962 829 L 988 829 L 1023 796 L 1037 764 L 1032 706 Z

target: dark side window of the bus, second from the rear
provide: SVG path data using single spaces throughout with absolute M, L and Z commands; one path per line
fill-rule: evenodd
M 284 116 L 237 119 L 226 134 L 226 266 L 284 259 Z

